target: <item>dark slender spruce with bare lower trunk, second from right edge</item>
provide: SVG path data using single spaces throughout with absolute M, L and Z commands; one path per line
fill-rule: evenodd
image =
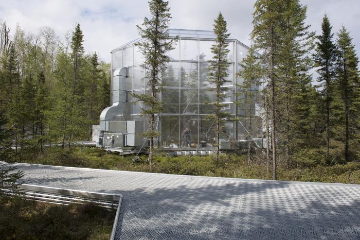
M 336 46 L 332 41 L 333 33 L 331 33 L 332 26 L 330 25 L 329 18 L 325 15 L 321 24 L 322 34 L 318 36 L 316 42 L 316 53 L 313 55 L 315 66 L 318 68 L 316 71 L 319 74 L 318 82 L 319 87 L 322 87 L 322 94 L 324 96 L 325 107 L 325 124 L 326 124 L 326 159 L 329 158 L 330 149 L 330 104 L 333 80 L 335 74 L 335 61 L 336 61 Z

